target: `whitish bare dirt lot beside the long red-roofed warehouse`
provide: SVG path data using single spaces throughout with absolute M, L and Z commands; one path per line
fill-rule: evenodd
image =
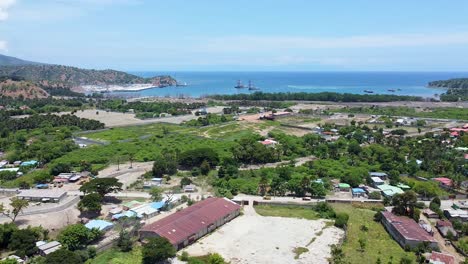
M 343 231 L 327 227 L 324 220 L 259 216 L 253 207 L 185 249 L 190 255 L 219 253 L 231 264 L 328 263 L 330 246 Z M 295 258 L 295 248 L 308 252 Z M 180 263 L 180 262 L 175 262 Z

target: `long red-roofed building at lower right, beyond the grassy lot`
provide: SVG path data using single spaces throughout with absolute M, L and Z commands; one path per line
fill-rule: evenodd
M 390 235 L 403 248 L 414 248 L 423 242 L 428 242 L 432 248 L 437 248 L 437 241 L 413 219 L 397 216 L 391 212 L 382 212 L 382 224 Z

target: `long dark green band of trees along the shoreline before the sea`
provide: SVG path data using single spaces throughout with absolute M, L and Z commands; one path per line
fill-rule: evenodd
M 217 100 L 248 100 L 248 101 L 327 101 L 327 102 L 393 102 L 393 101 L 422 101 L 417 96 L 399 96 L 391 94 L 349 94 L 349 93 L 263 93 L 232 94 L 210 96 Z

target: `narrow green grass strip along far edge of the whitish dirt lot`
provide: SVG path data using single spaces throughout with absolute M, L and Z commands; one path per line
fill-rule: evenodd
M 257 214 L 261 216 L 293 217 L 308 220 L 319 219 L 318 214 L 312 209 L 300 206 L 257 205 L 254 208 Z

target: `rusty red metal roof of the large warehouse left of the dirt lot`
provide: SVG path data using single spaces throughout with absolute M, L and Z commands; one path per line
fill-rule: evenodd
M 146 225 L 141 231 L 154 232 L 177 245 L 239 208 L 238 204 L 225 198 L 208 198 Z

